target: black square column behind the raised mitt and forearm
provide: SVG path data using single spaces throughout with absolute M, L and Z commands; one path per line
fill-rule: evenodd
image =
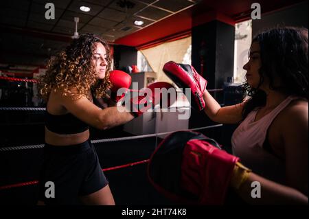
M 234 40 L 235 27 L 227 23 L 210 21 L 192 28 L 192 65 L 208 81 L 207 89 L 222 89 L 227 77 L 233 77 Z M 222 91 L 211 95 L 222 104 Z M 190 128 L 211 124 L 204 112 L 192 109 Z

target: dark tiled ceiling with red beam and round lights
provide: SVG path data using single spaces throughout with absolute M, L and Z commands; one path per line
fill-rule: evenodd
M 55 5 L 55 19 L 45 19 L 45 4 Z M 1 1 L 0 70 L 32 71 L 63 49 L 75 32 L 93 32 L 110 43 L 141 47 L 190 31 L 192 25 L 220 17 L 227 23 L 249 19 L 255 0 L 6 0 Z M 259 1 L 262 12 L 300 1 Z M 80 6 L 91 8 L 80 11 Z M 135 20 L 144 25 L 134 25 Z

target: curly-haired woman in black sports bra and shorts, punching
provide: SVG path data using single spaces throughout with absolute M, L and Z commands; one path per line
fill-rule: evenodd
M 40 93 L 47 101 L 44 163 L 38 205 L 115 205 L 89 141 L 89 125 L 104 130 L 124 124 L 133 115 L 113 106 L 103 110 L 93 104 L 111 87 L 108 45 L 93 34 L 73 40 L 65 51 L 49 60 L 41 78 Z M 54 196 L 48 198 L 54 183 Z M 47 184 L 46 184 L 47 183 Z

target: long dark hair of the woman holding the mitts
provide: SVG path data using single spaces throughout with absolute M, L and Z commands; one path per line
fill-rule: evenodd
M 308 29 L 277 27 L 258 34 L 252 43 L 260 45 L 260 83 L 257 88 L 250 87 L 248 82 L 242 85 L 244 97 L 250 97 L 242 118 L 266 104 L 266 93 L 260 89 L 264 76 L 270 82 L 270 89 L 308 100 Z M 275 86 L 274 78 L 281 79 L 281 86 Z

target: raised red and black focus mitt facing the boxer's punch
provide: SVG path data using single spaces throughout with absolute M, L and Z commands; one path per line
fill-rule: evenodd
M 200 76 L 194 67 L 170 61 L 165 63 L 163 71 L 179 88 L 191 89 L 193 96 L 191 104 L 195 103 L 200 111 L 205 108 L 203 93 L 207 86 L 207 80 Z M 183 92 L 185 91 L 183 90 Z

